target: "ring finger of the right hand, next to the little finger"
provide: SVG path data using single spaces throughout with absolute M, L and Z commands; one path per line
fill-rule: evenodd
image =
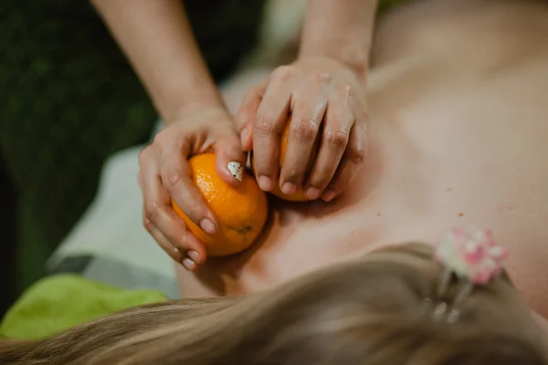
M 353 114 L 343 99 L 330 101 L 323 121 L 318 156 L 311 170 L 305 194 L 317 199 L 332 181 L 350 141 Z

